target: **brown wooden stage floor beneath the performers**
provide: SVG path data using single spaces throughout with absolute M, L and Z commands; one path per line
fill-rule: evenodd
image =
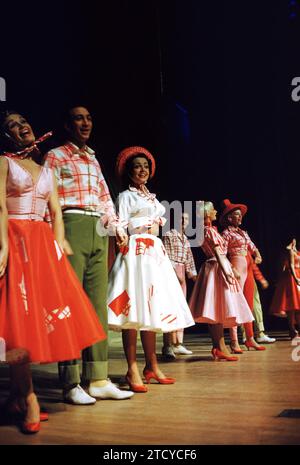
M 300 345 L 286 334 L 265 352 L 244 352 L 239 362 L 213 362 L 207 335 L 187 334 L 191 356 L 162 363 L 171 386 L 151 384 L 130 400 L 73 406 L 61 401 L 56 365 L 33 366 L 36 392 L 49 411 L 39 434 L 25 436 L 15 425 L 0 425 L 0 444 L 205 445 L 300 444 L 300 418 L 280 417 L 300 409 Z M 158 336 L 158 350 L 161 348 Z M 139 363 L 143 355 L 139 346 Z M 122 384 L 126 371 L 120 335 L 110 334 L 110 377 Z M 124 388 L 126 386 L 124 385 Z M 8 369 L 0 368 L 0 402 L 8 392 Z

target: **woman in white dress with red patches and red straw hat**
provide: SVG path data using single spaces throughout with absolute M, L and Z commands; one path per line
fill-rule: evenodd
M 151 378 L 173 384 L 158 367 L 156 332 L 171 332 L 194 324 L 176 274 L 162 241 L 156 237 L 165 223 L 165 207 L 146 188 L 154 175 L 155 160 L 143 147 L 124 149 L 117 159 L 117 174 L 127 178 L 117 211 L 129 241 L 120 249 L 109 276 L 108 322 L 122 330 L 128 363 L 126 381 L 134 392 L 147 392 L 136 362 L 137 330 L 145 353 L 145 383 Z

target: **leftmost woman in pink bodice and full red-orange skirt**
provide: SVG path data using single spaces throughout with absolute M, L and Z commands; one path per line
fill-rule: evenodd
M 40 414 L 29 363 L 79 358 L 106 336 L 65 255 L 72 251 L 54 176 L 34 161 L 41 140 L 17 112 L 2 115 L 0 131 L 8 149 L 0 157 L 0 338 L 8 354 L 25 349 L 10 363 L 8 404 L 21 414 L 22 431 L 35 433 L 47 416 Z M 46 207 L 53 229 L 44 221 Z

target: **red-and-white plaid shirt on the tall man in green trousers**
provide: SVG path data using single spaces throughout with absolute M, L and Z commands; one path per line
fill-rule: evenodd
M 105 226 L 118 225 L 115 207 L 95 152 L 88 146 L 79 149 L 72 142 L 50 150 L 45 166 L 57 179 L 62 210 L 82 208 L 100 213 Z

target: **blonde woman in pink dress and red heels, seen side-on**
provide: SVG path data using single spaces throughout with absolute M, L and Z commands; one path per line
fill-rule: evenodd
M 237 361 L 230 356 L 224 341 L 224 328 L 253 320 L 251 310 L 226 258 L 226 243 L 212 226 L 217 211 L 212 202 L 204 202 L 204 242 L 202 249 L 207 256 L 197 277 L 190 309 L 197 323 L 208 323 L 213 341 L 215 360 Z

